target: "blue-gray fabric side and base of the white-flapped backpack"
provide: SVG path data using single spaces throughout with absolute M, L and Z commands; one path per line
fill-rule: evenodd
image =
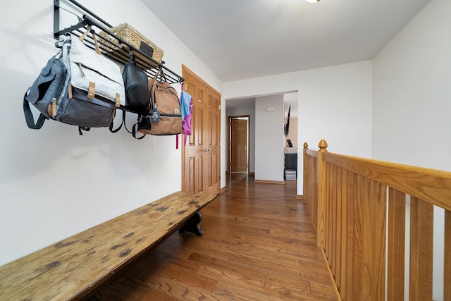
M 25 93 L 23 111 L 28 128 L 40 129 L 46 119 L 53 119 L 78 125 L 82 135 L 81 130 L 111 125 L 117 104 L 97 93 L 92 96 L 88 91 L 71 85 L 70 64 L 67 61 L 70 45 L 68 36 L 62 42 L 63 49 L 47 62 L 47 66 Z M 63 55 L 64 51 L 66 55 Z M 36 122 L 30 104 L 40 112 Z

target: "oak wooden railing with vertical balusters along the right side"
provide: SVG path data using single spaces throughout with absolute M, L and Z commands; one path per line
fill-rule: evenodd
M 439 231 L 445 233 L 443 300 L 451 300 L 451 173 L 332 154 L 326 147 L 325 140 L 318 151 L 304 144 L 304 202 L 339 297 L 432 300 L 433 231 Z M 433 229 L 434 206 L 445 209 L 444 228 Z

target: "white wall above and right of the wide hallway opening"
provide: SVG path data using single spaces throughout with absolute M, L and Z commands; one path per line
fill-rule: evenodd
M 326 139 L 329 152 L 371 157 L 371 76 L 371 61 L 362 61 L 226 82 L 223 98 L 297 91 L 297 168 L 301 171 L 303 161 L 300 152 L 304 142 L 309 144 L 310 149 L 318 149 L 319 141 Z M 256 140 L 264 135 L 264 131 L 257 126 Z M 256 160 L 256 170 L 257 166 Z M 302 195 L 302 180 L 302 173 L 298 173 L 298 195 Z

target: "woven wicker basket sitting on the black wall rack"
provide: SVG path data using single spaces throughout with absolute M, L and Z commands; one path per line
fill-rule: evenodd
M 113 32 L 113 34 L 120 37 L 121 39 L 123 39 L 125 42 L 128 42 L 128 44 L 132 45 L 137 49 L 140 49 L 140 51 L 142 51 L 142 53 L 144 54 L 148 54 L 149 51 L 148 48 L 152 47 L 153 49 L 152 59 L 161 63 L 164 54 L 163 49 L 156 46 L 156 44 L 154 44 L 151 40 L 147 39 L 147 37 L 144 37 L 144 35 L 135 30 L 135 28 L 131 27 L 128 23 L 123 23 L 116 27 L 111 27 L 110 31 Z M 116 45 L 119 44 L 117 39 L 111 38 L 106 32 L 99 32 L 99 35 L 106 41 L 111 41 L 111 43 Z M 143 43 L 146 44 L 148 47 L 145 45 L 143 47 L 142 45 Z M 118 47 L 116 47 L 115 45 L 110 45 L 109 43 L 106 43 L 106 45 L 101 45 L 101 48 L 103 48 L 107 52 L 118 50 Z M 135 55 L 137 59 L 141 59 L 142 61 L 149 63 L 151 66 L 155 66 L 155 63 L 147 59 L 146 56 L 142 56 L 140 53 L 135 53 Z

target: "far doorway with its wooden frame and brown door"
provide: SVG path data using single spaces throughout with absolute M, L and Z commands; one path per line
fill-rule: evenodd
M 249 115 L 228 116 L 229 173 L 249 173 Z

